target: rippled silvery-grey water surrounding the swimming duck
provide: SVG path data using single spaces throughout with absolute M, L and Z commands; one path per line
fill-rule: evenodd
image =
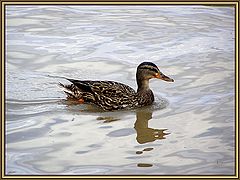
M 223 174 L 234 160 L 234 9 L 6 8 L 6 174 Z M 58 78 L 136 89 L 152 61 L 156 102 L 99 112 L 66 102 Z

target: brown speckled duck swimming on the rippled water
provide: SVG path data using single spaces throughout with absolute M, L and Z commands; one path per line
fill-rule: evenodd
M 59 83 L 67 99 L 80 104 L 95 104 L 104 111 L 133 109 L 148 106 L 154 102 L 154 94 L 149 87 L 150 79 L 167 82 L 174 80 L 164 75 L 152 62 L 142 62 L 136 71 L 137 91 L 116 81 L 92 81 L 65 78 L 71 84 Z

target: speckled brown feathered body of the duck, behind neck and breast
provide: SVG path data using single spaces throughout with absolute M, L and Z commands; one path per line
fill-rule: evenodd
M 138 104 L 137 93 L 131 87 L 114 81 L 80 81 L 68 79 L 73 84 L 63 85 L 69 98 L 83 99 L 104 110 L 132 108 Z

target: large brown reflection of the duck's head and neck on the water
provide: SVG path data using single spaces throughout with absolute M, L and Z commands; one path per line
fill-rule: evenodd
M 136 140 L 139 144 L 153 142 L 155 140 L 165 139 L 167 129 L 154 129 L 148 127 L 148 122 L 152 119 L 153 111 L 151 109 L 141 109 L 136 111 L 137 119 L 134 129 L 137 132 Z

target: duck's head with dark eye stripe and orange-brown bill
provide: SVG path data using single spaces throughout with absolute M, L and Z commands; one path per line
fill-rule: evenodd
M 152 78 L 162 79 L 168 82 L 174 82 L 172 78 L 164 75 L 154 63 L 141 63 L 137 67 L 137 81 L 146 81 Z

